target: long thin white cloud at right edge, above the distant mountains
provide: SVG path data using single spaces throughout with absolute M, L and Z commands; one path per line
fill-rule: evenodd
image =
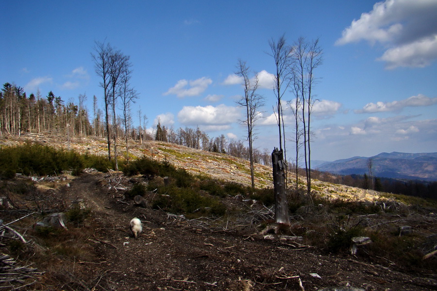
M 411 96 L 400 101 L 368 103 L 363 109 L 355 110 L 355 113 L 377 113 L 377 112 L 390 112 L 401 111 L 404 107 L 419 107 L 429 106 L 437 103 L 437 97 L 430 98 L 422 94 L 417 96 Z

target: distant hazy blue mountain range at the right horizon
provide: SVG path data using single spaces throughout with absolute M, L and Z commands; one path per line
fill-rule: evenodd
M 437 181 L 437 153 L 381 153 L 373 157 L 324 162 L 312 168 L 340 175 L 369 175 L 370 159 L 373 177 Z

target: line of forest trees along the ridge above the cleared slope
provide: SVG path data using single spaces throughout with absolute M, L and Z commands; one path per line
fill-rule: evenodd
M 0 92 L 0 135 L 50 133 L 54 136 L 70 138 L 106 137 L 104 114 L 97 107 L 97 97 L 93 96 L 92 114 L 84 105 L 87 96 L 80 95 L 78 99 L 79 104 L 73 101 L 65 102 L 61 96 L 55 96 L 52 91 L 47 96 L 43 96 L 39 90 L 36 95 L 31 93 L 28 97 L 22 87 L 9 82 L 4 83 Z M 167 128 L 161 126 L 160 122 L 151 133 L 146 129 L 146 116 L 141 117 L 143 119 L 141 126 L 132 124 L 131 113 L 127 116 L 126 124 L 121 114 L 117 116 L 116 127 L 111 124 L 110 134 L 116 128 L 120 139 L 158 140 L 249 160 L 249 151 L 243 141 L 228 140 L 223 134 L 210 137 L 199 127 Z M 261 151 L 253 148 L 253 159 L 256 163 L 271 164 L 268 149 Z

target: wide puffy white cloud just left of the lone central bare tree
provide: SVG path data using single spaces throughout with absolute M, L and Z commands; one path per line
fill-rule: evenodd
M 228 126 L 237 122 L 239 117 L 238 108 L 224 104 L 217 107 L 184 106 L 178 113 L 178 119 L 184 125 Z

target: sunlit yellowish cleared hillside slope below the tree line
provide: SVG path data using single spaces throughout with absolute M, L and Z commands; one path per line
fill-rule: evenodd
M 0 139 L 0 146 L 17 146 L 26 142 L 41 143 L 58 148 L 70 148 L 80 153 L 107 155 L 106 141 L 103 138 L 75 138 L 67 142 L 66 138 L 54 136 L 22 136 L 20 138 L 9 137 Z M 118 143 L 118 155 L 125 151 L 124 141 Z M 184 168 L 192 174 L 207 175 L 216 179 L 250 185 L 250 163 L 247 160 L 235 158 L 226 154 L 203 151 L 186 146 L 158 142 L 144 141 L 129 142 L 129 156 L 139 158 L 147 156 L 157 161 L 168 161 L 177 168 Z M 255 164 L 255 187 L 272 188 L 273 178 L 270 166 Z M 293 173 L 289 173 L 291 181 L 295 180 Z M 299 177 L 301 185 L 305 184 L 305 178 Z M 345 185 L 332 184 L 318 180 L 312 181 L 313 191 L 326 198 L 348 198 L 355 200 L 376 201 L 381 195 L 372 190 Z

